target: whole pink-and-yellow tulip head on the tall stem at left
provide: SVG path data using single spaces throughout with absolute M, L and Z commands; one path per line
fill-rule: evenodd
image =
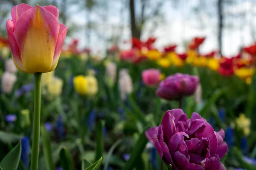
M 12 59 L 20 71 L 45 73 L 56 68 L 67 34 L 58 16 L 55 6 L 20 4 L 12 8 L 6 28 Z

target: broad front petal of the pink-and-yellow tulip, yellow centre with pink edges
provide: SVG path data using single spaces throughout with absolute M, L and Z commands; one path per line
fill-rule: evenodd
M 27 72 L 49 72 L 58 31 L 58 20 L 41 6 L 30 8 L 21 15 L 14 35 Z

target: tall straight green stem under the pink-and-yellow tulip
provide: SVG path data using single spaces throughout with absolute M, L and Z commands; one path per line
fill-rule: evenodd
M 30 170 L 38 169 L 39 140 L 40 140 L 40 107 L 41 107 L 41 75 L 35 73 L 35 94 L 34 94 L 34 120 L 33 120 L 33 139 L 32 156 Z

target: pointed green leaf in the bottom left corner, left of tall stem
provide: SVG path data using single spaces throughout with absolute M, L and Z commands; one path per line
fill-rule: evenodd
M 19 142 L 1 161 L 3 170 L 17 170 L 20 162 L 21 142 Z

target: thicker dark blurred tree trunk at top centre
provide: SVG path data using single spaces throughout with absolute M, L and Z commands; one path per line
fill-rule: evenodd
M 130 17 L 131 17 L 131 35 L 140 38 L 140 29 L 136 25 L 136 16 L 134 11 L 134 0 L 130 0 Z

